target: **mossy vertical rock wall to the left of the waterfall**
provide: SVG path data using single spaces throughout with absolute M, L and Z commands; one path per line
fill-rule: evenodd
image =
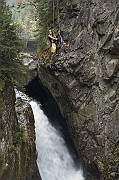
M 16 116 L 17 111 L 17 116 Z M 10 81 L 0 81 L 0 179 L 40 180 L 36 165 L 34 118 Z M 19 121 L 18 121 L 19 120 Z

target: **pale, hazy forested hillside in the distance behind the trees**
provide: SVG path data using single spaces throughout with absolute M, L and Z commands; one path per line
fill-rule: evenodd
M 19 24 L 18 35 L 21 39 L 34 39 L 36 31 L 36 15 L 33 5 L 11 7 L 12 19 Z

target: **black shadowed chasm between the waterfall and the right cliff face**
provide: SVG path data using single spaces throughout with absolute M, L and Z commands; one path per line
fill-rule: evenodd
M 40 102 L 41 109 L 44 111 L 45 115 L 48 117 L 52 126 L 58 129 L 62 137 L 64 138 L 70 155 L 74 159 L 74 166 L 78 170 L 81 167 L 81 157 L 77 151 L 73 140 L 68 132 L 67 124 L 65 118 L 61 115 L 59 107 L 49 92 L 49 90 L 42 85 L 39 78 L 34 78 L 26 87 L 25 93 L 32 97 L 37 102 Z

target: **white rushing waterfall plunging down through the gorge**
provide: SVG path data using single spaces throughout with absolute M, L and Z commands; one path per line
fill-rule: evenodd
M 37 164 L 42 180 L 84 180 L 76 170 L 73 159 L 60 132 L 48 121 L 40 105 L 31 101 L 35 117 Z

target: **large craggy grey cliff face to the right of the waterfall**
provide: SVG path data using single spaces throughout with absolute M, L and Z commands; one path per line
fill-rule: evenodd
M 69 47 L 39 78 L 81 152 L 86 179 L 119 180 L 119 1 L 74 0 L 61 12 Z

